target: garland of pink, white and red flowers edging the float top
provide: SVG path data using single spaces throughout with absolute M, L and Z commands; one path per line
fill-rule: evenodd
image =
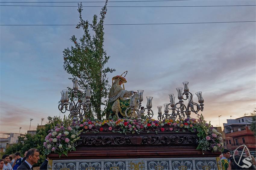
M 145 118 L 136 119 L 118 119 L 118 120 L 76 120 L 69 126 L 57 125 L 49 131 L 45 137 L 45 153 L 65 154 L 75 150 L 76 141 L 80 133 L 99 133 L 99 132 L 118 132 L 118 133 L 139 133 L 139 132 L 197 132 L 198 147 L 202 151 L 222 151 L 222 137 L 210 123 L 206 123 L 203 116 L 198 119 L 180 119 L 173 121 L 166 119 L 158 121 Z

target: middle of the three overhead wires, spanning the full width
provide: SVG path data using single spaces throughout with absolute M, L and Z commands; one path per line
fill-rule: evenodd
M 0 6 L 14 6 L 14 7 L 77 7 L 65 5 L 0 5 Z M 202 5 L 202 6 L 108 6 L 108 7 L 241 7 L 241 6 L 256 6 L 256 5 Z M 103 7 L 103 6 L 83 6 L 83 7 Z

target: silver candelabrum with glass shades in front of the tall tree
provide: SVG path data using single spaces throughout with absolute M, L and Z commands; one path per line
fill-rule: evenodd
M 61 100 L 58 106 L 58 109 L 61 113 L 66 113 L 66 111 L 70 111 L 68 115 L 69 118 L 73 118 L 73 120 L 77 120 L 78 117 L 82 120 L 86 113 L 88 113 L 92 108 L 91 103 L 91 89 L 86 88 L 86 94 L 84 95 L 81 90 L 78 90 L 78 80 L 72 79 L 73 89 L 70 91 L 70 99 L 69 102 L 69 90 L 65 89 L 61 91 Z

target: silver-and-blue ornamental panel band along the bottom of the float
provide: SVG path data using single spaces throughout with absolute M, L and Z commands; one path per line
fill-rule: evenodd
M 81 170 L 210 170 L 220 169 L 216 157 L 137 158 L 137 159 L 67 159 L 53 160 L 52 169 Z

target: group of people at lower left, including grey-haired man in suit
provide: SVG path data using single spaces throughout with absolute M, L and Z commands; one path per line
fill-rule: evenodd
M 24 153 L 24 157 L 20 156 L 20 152 L 11 155 L 3 155 L 0 160 L 0 170 L 30 170 L 39 160 L 39 150 L 31 148 Z M 47 169 L 48 158 L 40 166 L 40 169 Z

